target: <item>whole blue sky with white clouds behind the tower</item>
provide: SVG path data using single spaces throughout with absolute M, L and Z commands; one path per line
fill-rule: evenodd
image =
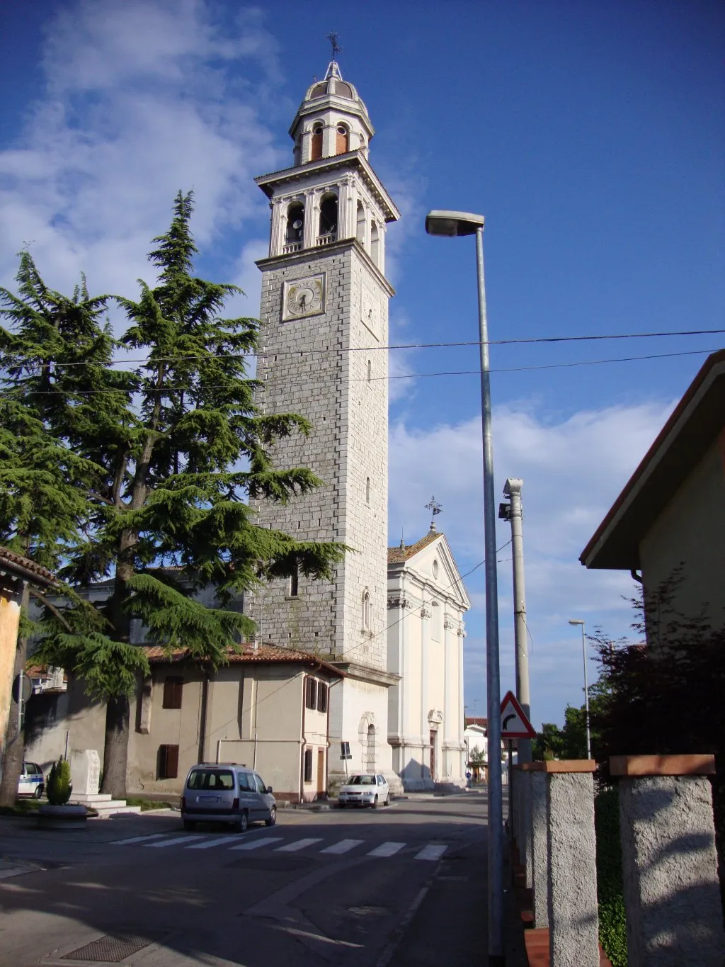
M 291 163 L 287 128 L 335 30 L 376 129 L 370 160 L 403 213 L 388 235 L 392 341 L 476 338 L 473 242 L 427 237 L 429 208 L 486 217 L 492 339 L 723 328 L 721 4 L 45 0 L 6 3 L 2 17 L 13 37 L 0 63 L 2 284 L 30 242 L 50 284 L 68 290 L 82 269 L 92 291 L 131 293 L 175 191 L 193 188 L 197 267 L 242 284 L 240 308 L 256 315 L 268 209 L 252 178 Z M 507 476 L 524 479 L 536 724 L 582 697 L 567 619 L 627 629 L 631 579 L 577 558 L 702 351 L 722 344 L 492 348 L 497 495 Z M 477 365 L 475 347 L 391 354 L 396 375 Z M 391 542 L 401 528 L 409 542 L 425 532 L 435 493 L 463 572 L 482 558 L 478 393 L 476 375 L 391 381 Z M 482 581 L 479 568 L 466 582 L 466 702 L 478 715 Z

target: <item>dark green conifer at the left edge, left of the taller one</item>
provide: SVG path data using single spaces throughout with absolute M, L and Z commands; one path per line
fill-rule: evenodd
M 48 289 L 27 251 L 16 279 L 17 296 L 0 289 L 0 316 L 11 324 L 0 328 L 0 543 L 55 571 L 87 526 L 86 495 L 102 475 L 71 446 L 86 419 L 86 400 L 74 389 L 88 382 L 88 364 L 110 358 L 113 340 L 101 322 L 107 297 L 91 299 L 85 279 L 72 298 Z M 65 428 L 61 435 L 58 427 Z M 15 674 L 27 660 L 31 595 L 44 601 L 26 588 Z M 13 701 L 0 805 L 14 804 L 23 752 Z

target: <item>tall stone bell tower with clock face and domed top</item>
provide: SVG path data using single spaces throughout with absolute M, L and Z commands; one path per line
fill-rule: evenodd
M 356 88 L 333 59 L 289 130 L 292 167 L 255 181 L 270 199 L 257 375 L 266 414 L 300 413 L 308 437 L 275 444 L 280 469 L 324 482 L 282 507 L 254 503 L 257 522 L 351 550 L 330 582 L 273 581 L 247 598 L 264 644 L 334 662 L 327 771 L 391 773 L 387 670 L 388 301 L 386 226 L 399 213 L 368 161 L 374 134 Z M 349 743 L 350 760 L 340 744 Z

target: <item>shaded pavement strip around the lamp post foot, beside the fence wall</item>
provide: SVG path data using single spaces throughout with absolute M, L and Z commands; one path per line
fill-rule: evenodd
M 472 967 L 485 964 L 487 934 L 486 841 L 449 854 L 375 967 Z M 523 929 L 510 870 L 504 875 L 507 967 L 526 967 Z

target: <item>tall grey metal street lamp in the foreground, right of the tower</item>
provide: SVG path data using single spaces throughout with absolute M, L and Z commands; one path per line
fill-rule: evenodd
M 491 379 L 488 365 L 486 292 L 483 279 L 483 216 L 470 212 L 429 212 L 429 235 L 476 235 L 480 409 L 483 433 L 483 541 L 486 575 L 486 699 L 488 716 L 488 964 L 504 964 L 504 814 L 501 785 L 501 681 L 499 603 L 496 574 L 496 501 L 493 488 Z M 493 750 L 496 750 L 494 754 Z

